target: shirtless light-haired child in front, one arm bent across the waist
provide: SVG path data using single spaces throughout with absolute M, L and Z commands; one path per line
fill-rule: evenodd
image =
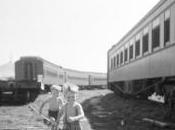
M 63 130 L 81 130 L 80 120 L 84 118 L 84 111 L 80 103 L 76 101 L 78 87 L 68 84 L 66 90 L 67 103 L 63 105 L 55 125 L 59 124 L 61 116 L 64 114 Z

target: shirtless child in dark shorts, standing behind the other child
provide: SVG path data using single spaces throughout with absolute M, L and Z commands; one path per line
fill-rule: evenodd
M 61 92 L 61 87 L 57 85 L 52 85 L 51 87 L 51 94 L 52 96 L 45 100 L 40 107 L 39 112 L 42 112 L 42 109 L 46 103 L 49 104 L 49 109 L 48 109 L 48 116 L 49 118 L 54 118 L 54 120 L 57 120 L 57 115 L 59 110 L 61 109 L 63 105 L 62 99 L 59 97 L 59 93 Z

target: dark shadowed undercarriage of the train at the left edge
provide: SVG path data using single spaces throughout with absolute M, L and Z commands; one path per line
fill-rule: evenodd
M 31 102 L 36 99 L 39 93 L 40 87 L 36 82 L 13 82 L 13 84 L 7 83 L 5 86 L 0 87 L 0 102 Z

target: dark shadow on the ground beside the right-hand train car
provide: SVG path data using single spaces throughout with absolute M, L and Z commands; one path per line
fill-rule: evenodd
M 143 118 L 163 120 L 162 104 L 109 93 L 85 100 L 82 105 L 93 130 L 169 130 L 142 121 Z

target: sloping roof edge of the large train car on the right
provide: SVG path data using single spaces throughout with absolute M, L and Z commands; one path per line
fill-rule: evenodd
M 140 24 L 145 21 L 145 19 L 147 19 L 151 14 L 153 14 L 162 4 L 164 4 L 167 0 L 160 0 L 130 31 L 128 31 L 126 33 L 126 35 L 124 35 L 124 37 L 122 39 L 120 39 L 116 44 L 114 44 L 109 50 L 111 51 L 115 46 L 119 45 L 135 28 L 137 28 L 138 26 L 140 26 Z

